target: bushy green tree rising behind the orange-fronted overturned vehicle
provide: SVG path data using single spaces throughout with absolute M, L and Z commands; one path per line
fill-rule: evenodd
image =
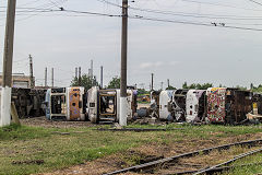
M 90 90 L 92 86 L 97 86 L 98 83 L 95 79 L 92 79 L 90 75 L 87 74 L 83 74 L 81 77 L 81 85 L 79 84 L 79 79 L 78 78 L 73 78 L 73 80 L 71 81 L 71 85 L 70 86 L 84 86 L 85 90 Z

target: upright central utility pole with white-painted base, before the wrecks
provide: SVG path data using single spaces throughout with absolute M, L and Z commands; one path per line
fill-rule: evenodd
M 127 126 L 127 61 L 128 61 L 128 0 L 122 0 L 122 40 L 121 40 L 121 83 L 120 83 L 120 126 Z

